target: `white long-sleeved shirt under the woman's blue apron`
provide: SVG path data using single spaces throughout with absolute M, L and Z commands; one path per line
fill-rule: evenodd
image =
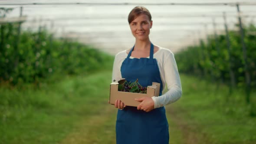
M 177 69 L 176 61 L 174 59 L 174 54 L 169 49 L 165 49 L 160 46 L 158 47 L 159 49 L 154 53 L 153 57 L 157 60 L 158 63 L 158 68 L 163 83 L 163 90 L 167 85 L 168 91 L 161 96 L 152 97 L 154 101 L 154 108 L 159 108 L 167 104 L 171 104 L 181 98 L 182 95 L 181 79 Z M 112 82 L 114 82 L 114 80 L 118 81 L 123 79 L 121 77 L 121 65 L 127 56 L 128 54 L 126 53 L 126 50 L 121 51 L 115 55 Z M 133 57 L 130 56 L 130 59 L 133 59 Z

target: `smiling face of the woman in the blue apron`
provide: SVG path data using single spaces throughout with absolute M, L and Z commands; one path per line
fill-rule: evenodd
M 152 21 L 145 14 L 139 15 L 130 23 L 132 35 L 142 41 L 148 39 L 151 27 Z

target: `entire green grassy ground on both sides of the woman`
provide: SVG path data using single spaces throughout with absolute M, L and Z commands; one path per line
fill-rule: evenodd
M 181 75 L 183 96 L 166 106 L 170 144 L 255 144 L 243 91 Z M 0 87 L 0 144 L 115 144 L 111 71 L 59 82 Z M 252 94 L 255 98 L 255 93 Z M 253 99 L 255 101 L 255 99 Z

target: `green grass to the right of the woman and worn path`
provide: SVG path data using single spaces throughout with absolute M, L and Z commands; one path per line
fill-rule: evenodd
M 246 105 L 243 90 L 229 95 L 226 85 L 219 85 L 181 75 L 183 96 L 167 108 L 186 121 L 197 134 L 197 144 L 255 144 L 256 117 L 250 116 L 252 105 Z M 256 93 L 252 93 L 255 104 Z M 226 101 L 228 97 L 228 101 Z M 253 113 L 256 109 L 252 110 Z

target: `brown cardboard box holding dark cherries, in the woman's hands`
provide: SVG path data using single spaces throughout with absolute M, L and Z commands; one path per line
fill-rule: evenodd
M 160 83 L 152 82 L 151 86 L 147 87 L 147 94 L 135 93 L 135 92 L 121 92 L 118 91 L 118 82 L 112 82 L 110 84 L 110 96 L 109 101 L 110 104 L 115 105 L 115 100 L 119 99 L 125 103 L 127 106 L 137 107 L 140 102 L 135 101 L 135 98 L 142 97 L 153 97 L 159 96 Z

